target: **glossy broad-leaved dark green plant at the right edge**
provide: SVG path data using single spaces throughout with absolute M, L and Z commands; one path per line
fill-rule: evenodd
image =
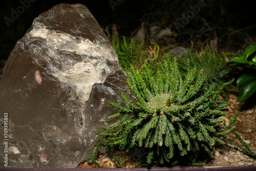
M 232 55 L 234 58 L 228 62 L 234 63 L 236 66 L 244 66 L 256 71 L 256 45 L 250 45 L 246 48 L 245 52 L 238 54 L 227 52 L 224 55 Z M 248 99 L 256 91 L 256 75 L 253 73 L 246 73 L 241 75 L 237 80 L 237 87 L 240 88 L 238 101 Z

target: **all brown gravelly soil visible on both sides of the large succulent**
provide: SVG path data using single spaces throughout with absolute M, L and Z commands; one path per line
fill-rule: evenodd
M 237 95 L 229 94 L 226 97 L 230 104 L 227 106 L 229 111 L 227 112 L 226 119 L 230 120 L 235 114 L 238 114 L 237 120 L 234 123 L 236 127 L 236 133 L 242 137 L 244 142 L 250 147 L 251 151 L 256 153 L 256 99 L 250 97 L 243 102 L 237 101 Z M 221 137 L 223 140 L 228 140 L 239 145 L 242 143 L 238 140 L 236 135 L 229 134 L 225 137 Z M 132 158 L 128 152 L 115 152 L 118 156 L 121 156 L 123 167 L 130 168 L 135 167 L 138 162 Z M 221 166 L 256 166 L 256 160 L 250 158 L 238 147 L 225 144 L 216 147 L 216 151 L 213 152 L 213 158 L 209 162 L 203 164 L 203 167 L 221 167 Z M 101 153 L 97 162 L 107 168 L 119 167 L 118 163 L 114 159 L 108 157 L 106 153 Z M 81 163 L 77 168 L 97 168 L 98 166 L 92 162 L 86 161 Z

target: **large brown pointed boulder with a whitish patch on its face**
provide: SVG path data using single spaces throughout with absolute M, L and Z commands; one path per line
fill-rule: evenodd
M 0 81 L 8 167 L 72 168 L 86 160 L 99 139 L 95 130 L 114 123 L 107 119 L 115 110 L 108 101 L 122 103 L 121 92 L 132 98 L 125 81 L 87 7 L 59 4 L 39 15 L 17 41 Z

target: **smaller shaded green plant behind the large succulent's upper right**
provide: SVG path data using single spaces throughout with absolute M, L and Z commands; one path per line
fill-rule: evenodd
M 192 48 L 191 48 L 192 49 Z M 207 45 L 205 48 L 201 48 L 201 52 L 196 51 L 192 52 L 191 49 L 188 49 L 189 55 L 183 57 L 178 57 L 180 67 L 183 69 L 183 74 L 186 74 L 188 71 L 187 59 L 189 59 L 191 66 L 195 66 L 198 70 L 203 70 L 206 74 L 206 82 L 204 87 L 209 87 L 211 84 L 223 84 L 225 79 L 228 78 L 228 74 L 231 71 L 231 68 L 227 65 L 225 58 L 220 56 L 218 51 L 212 51 Z M 226 92 L 235 92 L 236 87 L 226 87 Z

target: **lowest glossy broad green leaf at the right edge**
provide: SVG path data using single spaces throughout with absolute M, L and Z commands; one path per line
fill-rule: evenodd
M 256 80 L 246 82 L 240 89 L 238 101 L 244 101 L 256 91 Z

